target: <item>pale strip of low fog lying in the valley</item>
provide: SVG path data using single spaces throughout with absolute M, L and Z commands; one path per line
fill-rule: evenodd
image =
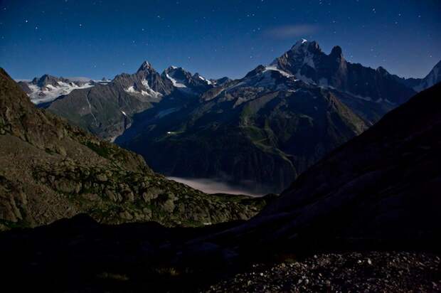
M 184 183 L 190 187 L 203 191 L 205 193 L 228 193 L 243 194 L 247 196 L 265 196 L 267 193 L 251 191 L 243 186 L 234 186 L 224 181 L 214 179 L 186 179 L 179 177 L 167 177 L 179 183 Z

